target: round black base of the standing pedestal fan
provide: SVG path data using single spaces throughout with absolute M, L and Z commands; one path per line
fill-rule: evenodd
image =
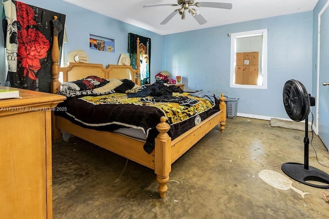
M 329 189 L 329 175 L 315 167 L 305 169 L 303 164 L 285 163 L 281 165 L 282 171 L 294 180 L 315 188 Z M 328 185 L 317 185 L 307 181 L 321 182 Z

